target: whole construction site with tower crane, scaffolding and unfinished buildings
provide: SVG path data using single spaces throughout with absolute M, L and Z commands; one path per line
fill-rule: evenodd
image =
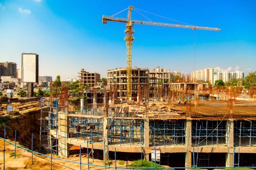
M 66 82 L 51 82 L 49 97 L 1 103 L 3 162 L 5 142 L 14 145 L 15 140 L 15 152 L 19 141 L 19 148 L 31 152 L 31 164 L 37 153 L 51 162 L 51 169 L 53 154 L 79 164 L 75 169 L 80 170 L 136 169 L 128 163 L 134 160 L 150 161 L 154 169 L 255 169 L 256 86 L 244 93 L 243 86 L 214 86 L 163 68 L 132 68 L 134 24 L 220 29 L 132 20 L 134 8 L 127 9 L 127 18 L 102 17 L 104 24 L 126 23 L 127 67 L 109 69 L 107 85 L 96 87 L 100 75 L 81 69 L 76 102 L 70 101 Z M 83 90 L 84 84 L 90 89 Z M 72 162 L 74 157 L 80 160 Z M 127 164 L 117 166 L 118 161 Z M 58 163 L 62 169 L 74 168 L 63 162 Z

